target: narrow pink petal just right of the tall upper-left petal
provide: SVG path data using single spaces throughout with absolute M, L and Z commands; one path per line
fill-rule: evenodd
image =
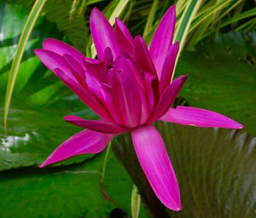
M 115 20 L 115 29 L 117 37 L 119 38 L 119 43 L 122 45 L 123 51 L 133 56 L 134 40 L 128 28 L 121 20 L 119 20 L 119 18 L 116 18 Z

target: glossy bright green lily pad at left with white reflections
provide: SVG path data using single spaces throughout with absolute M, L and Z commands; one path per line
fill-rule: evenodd
M 0 94 L 5 95 L 9 69 L 15 55 L 26 11 L 17 5 L 0 3 Z M 96 118 L 84 104 L 46 69 L 33 50 L 47 37 L 62 37 L 55 25 L 40 17 L 26 45 L 12 98 L 7 135 L 3 129 L 3 100 L 0 100 L 0 170 L 42 164 L 56 146 L 80 131 L 63 120 L 77 114 Z M 91 155 L 61 164 L 79 163 Z

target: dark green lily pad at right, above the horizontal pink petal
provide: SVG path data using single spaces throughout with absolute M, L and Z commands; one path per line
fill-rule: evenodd
M 184 51 L 177 74 L 189 74 L 181 95 L 196 106 L 242 123 L 256 136 L 256 32 L 230 32 Z

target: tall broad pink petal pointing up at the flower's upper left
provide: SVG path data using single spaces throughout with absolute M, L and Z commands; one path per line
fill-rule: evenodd
M 121 54 L 118 38 L 113 27 L 104 14 L 96 8 L 90 13 L 90 32 L 100 60 L 104 59 L 104 52 L 107 47 L 112 50 L 114 57 Z

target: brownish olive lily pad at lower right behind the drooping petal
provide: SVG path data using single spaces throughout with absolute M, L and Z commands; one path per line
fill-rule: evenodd
M 183 205 L 180 212 L 165 208 L 155 197 L 137 161 L 131 136 L 119 136 L 113 143 L 113 151 L 155 217 L 256 216 L 256 138 L 241 130 L 164 122 L 156 127 L 177 175 Z

